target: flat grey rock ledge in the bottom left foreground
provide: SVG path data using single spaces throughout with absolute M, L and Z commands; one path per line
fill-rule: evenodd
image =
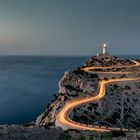
M 61 128 L 45 129 L 39 126 L 2 125 L 0 140 L 57 140 Z

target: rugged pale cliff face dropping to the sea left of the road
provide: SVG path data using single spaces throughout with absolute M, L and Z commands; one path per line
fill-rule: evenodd
M 36 119 L 37 125 L 53 125 L 65 102 L 76 97 L 93 94 L 98 85 L 98 76 L 80 69 L 66 71 L 59 82 L 59 91 L 46 110 Z

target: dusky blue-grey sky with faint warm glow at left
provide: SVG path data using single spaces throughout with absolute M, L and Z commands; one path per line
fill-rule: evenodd
M 140 53 L 140 0 L 0 0 L 0 55 Z

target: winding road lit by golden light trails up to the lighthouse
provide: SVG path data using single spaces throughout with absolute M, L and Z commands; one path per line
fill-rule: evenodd
M 134 61 L 134 60 L 132 60 L 132 61 L 133 61 L 133 63 L 135 63 L 134 65 L 122 66 L 122 67 L 123 68 L 131 68 L 131 67 L 140 66 L 139 62 Z M 116 67 L 118 67 L 118 66 L 115 66 L 115 68 Z M 93 71 L 93 70 L 98 69 L 98 68 L 114 68 L 114 67 L 113 66 L 112 67 L 86 67 L 86 68 L 83 68 L 82 70 L 90 72 L 90 70 Z M 120 68 L 120 66 L 119 66 L 119 68 Z M 108 72 L 106 72 L 106 73 L 108 73 Z M 111 72 L 111 73 L 115 73 L 115 72 Z M 119 73 L 126 74 L 128 72 L 119 72 Z M 102 80 L 101 82 L 99 82 L 98 91 L 97 91 L 96 96 L 95 96 L 95 94 L 93 94 L 94 96 L 72 99 L 71 101 L 68 101 L 64 105 L 64 107 L 61 109 L 61 111 L 57 115 L 56 122 L 55 122 L 56 127 L 61 126 L 62 129 L 64 129 L 64 130 L 66 130 L 66 129 L 78 129 L 78 130 L 90 130 L 90 131 L 99 131 L 99 132 L 111 131 L 111 130 L 128 131 L 128 129 L 125 129 L 125 128 L 104 127 L 104 126 L 99 127 L 96 125 L 80 124 L 80 123 L 72 121 L 69 118 L 69 115 L 75 107 L 80 106 L 81 104 L 86 104 L 86 103 L 98 101 L 99 99 L 104 97 L 105 93 L 106 93 L 106 85 L 107 84 L 114 83 L 114 82 L 139 81 L 139 80 L 140 80 L 140 78 L 121 78 L 121 79 L 110 79 L 107 81 Z M 135 131 L 135 130 L 131 130 L 131 131 Z

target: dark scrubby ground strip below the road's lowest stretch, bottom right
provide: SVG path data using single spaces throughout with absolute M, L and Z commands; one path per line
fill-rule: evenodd
M 139 140 L 140 132 L 109 132 L 67 130 L 61 133 L 58 140 Z

